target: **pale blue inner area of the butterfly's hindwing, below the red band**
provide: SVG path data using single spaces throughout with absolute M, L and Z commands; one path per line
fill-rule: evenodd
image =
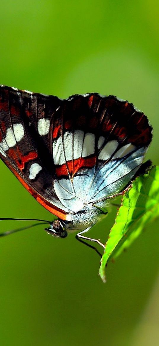
M 70 211 L 77 212 L 87 204 L 105 200 L 124 190 L 138 171 L 145 155 L 142 147 L 129 156 L 111 160 L 105 165 L 100 163 L 92 169 L 82 170 L 81 175 L 70 180 L 61 179 L 54 182 L 54 190 L 62 204 Z

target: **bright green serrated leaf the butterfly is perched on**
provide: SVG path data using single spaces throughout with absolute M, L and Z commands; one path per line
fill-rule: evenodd
M 135 240 L 148 222 L 159 217 L 159 166 L 139 176 L 123 195 L 115 224 L 110 230 L 99 275 L 105 282 L 105 266 Z

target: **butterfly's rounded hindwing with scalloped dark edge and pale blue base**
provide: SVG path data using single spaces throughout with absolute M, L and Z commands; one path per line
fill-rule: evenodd
M 147 117 L 127 101 L 96 93 L 69 98 L 55 117 L 62 118 L 52 135 L 61 202 L 78 211 L 123 191 L 151 142 Z

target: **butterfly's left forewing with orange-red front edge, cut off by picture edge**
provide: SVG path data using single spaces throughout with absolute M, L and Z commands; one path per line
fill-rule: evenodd
M 46 209 L 62 219 L 64 208 L 53 189 L 50 119 L 61 100 L 0 86 L 0 157 Z

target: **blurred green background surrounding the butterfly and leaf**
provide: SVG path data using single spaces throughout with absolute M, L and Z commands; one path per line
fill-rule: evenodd
M 115 94 L 149 117 L 159 163 L 159 3 L 0 3 L 0 83 L 67 98 Z M 0 162 L 1 217 L 52 219 Z M 103 242 L 116 209 L 91 230 Z M 22 224 L 1 221 L 1 231 Z M 23 225 L 27 223 L 23 222 Z M 98 255 L 43 226 L 0 239 L 1 345 L 159 345 L 159 221 L 98 276 Z M 97 236 L 98 235 L 98 236 Z

